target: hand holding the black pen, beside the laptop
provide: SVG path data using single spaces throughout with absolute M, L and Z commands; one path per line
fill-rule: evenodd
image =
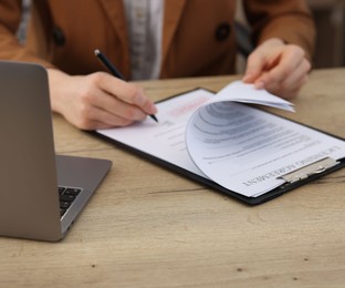
M 51 105 L 82 130 L 129 125 L 157 109 L 143 89 L 105 72 L 71 76 L 49 69 Z

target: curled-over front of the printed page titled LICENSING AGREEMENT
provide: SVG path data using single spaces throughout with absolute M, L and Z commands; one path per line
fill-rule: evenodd
M 233 102 L 196 112 L 186 142 L 209 178 L 248 197 L 282 185 L 280 176 L 307 164 L 345 156 L 344 141 Z

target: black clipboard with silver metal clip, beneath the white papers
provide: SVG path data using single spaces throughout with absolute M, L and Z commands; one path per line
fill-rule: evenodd
M 159 102 L 157 102 L 157 104 L 159 103 L 164 103 L 166 101 L 169 101 L 171 99 L 175 99 L 175 97 L 178 97 L 180 95 L 184 95 L 186 93 L 190 93 L 190 92 L 194 92 L 194 91 L 197 91 L 198 89 L 196 90 L 191 90 L 191 91 L 187 91 L 187 92 L 184 92 L 184 93 L 180 93 L 180 94 L 177 94 L 177 95 L 172 95 L 170 97 L 167 97 L 165 100 L 161 100 Z M 210 91 L 210 93 L 213 93 Z M 241 104 L 241 105 L 247 105 L 247 104 Z M 263 113 L 268 113 L 268 114 L 273 114 L 271 112 L 268 112 L 268 111 L 263 111 L 259 107 L 254 107 L 255 110 L 260 110 L 262 111 Z M 307 125 L 304 125 L 304 124 L 301 124 L 299 122 L 295 122 L 295 121 L 292 121 L 292 120 L 289 120 L 286 117 L 282 117 L 280 115 L 275 115 L 273 114 L 274 116 L 278 116 L 280 119 L 283 119 L 284 121 L 288 121 L 288 122 L 292 122 L 292 123 L 296 123 L 301 126 L 304 126 L 304 127 L 309 127 L 313 131 L 317 131 L 324 135 L 328 135 L 331 137 L 334 137 L 334 138 L 337 138 L 337 140 L 341 140 L 341 141 L 344 141 L 344 138 L 341 138 L 338 136 L 335 136 L 335 135 L 332 135 L 330 133 L 326 133 L 326 132 L 323 132 L 321 130 L 317 130 L 317 128 L 313 128 L 311 126 L 307 126 Z M 218 193 L 222 193 L 224 195 L 229 195 L 231 197 L 233 197 L 234 199 L 237 200 L 240 200 L 242 203 L 245 203 L 248 205 L 259 205 L 259 204 L 263 204 L 268 200 L 271 200 L 273 198 L 276 198 L 290 191 L 293 191 L 302 185 L 305 185 L 312 181 L 315 181 L 316 178 L 320 178 L 320 177 L 323 177 L 330 173 L 333 173 L 337 169 L 341 169 L 345 166 L 345 157 L 344 158 L 339 158 L 339 160 L 333 160 L 332 157 L 324 157 L 322 160 L 318 160 L 317 162 L 313 162 L 309 165 L 304 165 L 303 167 L 299 168 L 299 169 L 295 169 L 293 172 L 289 172 L 286 174 L 283 174 L 283 175 L 280 175 L 281 178 L 284 179 L 284 183 L 260 196 L 257 196 L 257 197 L 248 197 L 248 196 L 244 196 L 242 194 L 239 194 L 234 191 L 231 191 L 231 189 L 228 189 L 228 188 L 224 188 L 223 186 L 217 184 L 216 182 L 207 178 L 207 177 L 203 177 L 203 176 L 200 176 L 196 173 L 192 173 L 190 172 L 189 169 L 186 169 L 185 167 L 180 166 L 180 165 L 176 165 L 169 161 L 166 161 L 157 155 L 154 155 L 153 153 L 147 153 L 138 147 L 134 147 L 133 145 L 130 144 L 126 144 L 124 143 L 123 141 L 121 141 L 121 138 L 116 138 L 116 137 L 112 137 L 112 136 L 108 136 L 108 135 L 104 135 L 102 133 L 100 133 L 100 131 L 94 131 L 94 132 L 91 132 L 93 135 L 95 135 L 96 137 L 100 137 L 111 144 L 114 144 L 125 151 L 128 151 L 130 153 L 134 153 L 134 154 L 137 154 L 139 156 L 142 156 L 143 158 L 146 158 L 148 161 L 150 161 L 151 163 L 155 163 L 159 166 L 163 166 L 169 171 L 172 171 L 175 173 L 178 173 L 179 175 L 182 175 L 187 178 L 190 178 L 192 181 L 196 181 L 202 185 L 206 185 L 212 189 L 215 189 L 216 192 Z

